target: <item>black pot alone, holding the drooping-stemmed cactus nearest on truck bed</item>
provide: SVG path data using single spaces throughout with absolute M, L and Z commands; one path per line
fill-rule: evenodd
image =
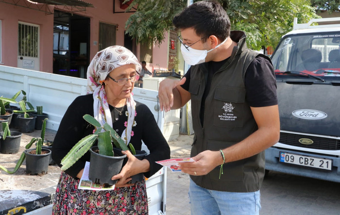
M 26 149 L 26 172 L 30 175 L 44 175 L 49 170 L 49 161 L 51 157 L 50 149 L 41 149 L 41 152 L 47 151 L 46 154 L 30 154 L 35 149 Z

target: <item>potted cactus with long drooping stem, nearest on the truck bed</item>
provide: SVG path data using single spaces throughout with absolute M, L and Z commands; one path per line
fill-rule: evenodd
M 50 149 L 43 149 L 42 143 L 44 142 L 45 137 L 45 129 L 46 129 L 46 120 L 44 120 L 43 128 L 41 130 L 40 137 L 32 138 L 31 141 L 26 145 L 26 150 L 22 152 L 17 165 L 14 167 L 13 171 L 8 170 L 4 166 L 0 165 L 0 169 L 3 171 L 13 174 L 17 171 L 17 169 L 22 165 L 26 158 L 26 172 L 31 175 L 40 175 L 46 174 L 49 168 L 49 160 L 51 156 Z M 35 149 L 30 149 L 31 146 L 36 143 Z

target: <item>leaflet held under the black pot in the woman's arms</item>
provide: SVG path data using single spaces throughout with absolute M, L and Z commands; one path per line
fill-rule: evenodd
M 78 189 L 82 189 L 82 190 L 114 190 L 115 189 L 115 185 L 109 186 L 106 183 L 104 184 L 93 183 L 88 178 L 89 169 L 90 169 L 90 162 L 86 161 L 82 178 L 79 181 Z

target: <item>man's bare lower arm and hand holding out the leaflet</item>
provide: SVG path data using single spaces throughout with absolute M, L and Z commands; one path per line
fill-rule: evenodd
M 223 149 L 225 162 L 232 162 L 251 157 L 277 143 L 280 137 L 280 119 L 278 105 L 251 107 L 258 130 L 241 142 Z M 206 175 L 223 163 L 220 151 L 205 150 L 193 159 L 194 163 L 181 163 L 183 172 L 190 175 Z

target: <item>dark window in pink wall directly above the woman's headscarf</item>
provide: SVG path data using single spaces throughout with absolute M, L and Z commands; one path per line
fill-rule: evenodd
M 117 25 L 99 23 L 99 50 L 116 45 Z

